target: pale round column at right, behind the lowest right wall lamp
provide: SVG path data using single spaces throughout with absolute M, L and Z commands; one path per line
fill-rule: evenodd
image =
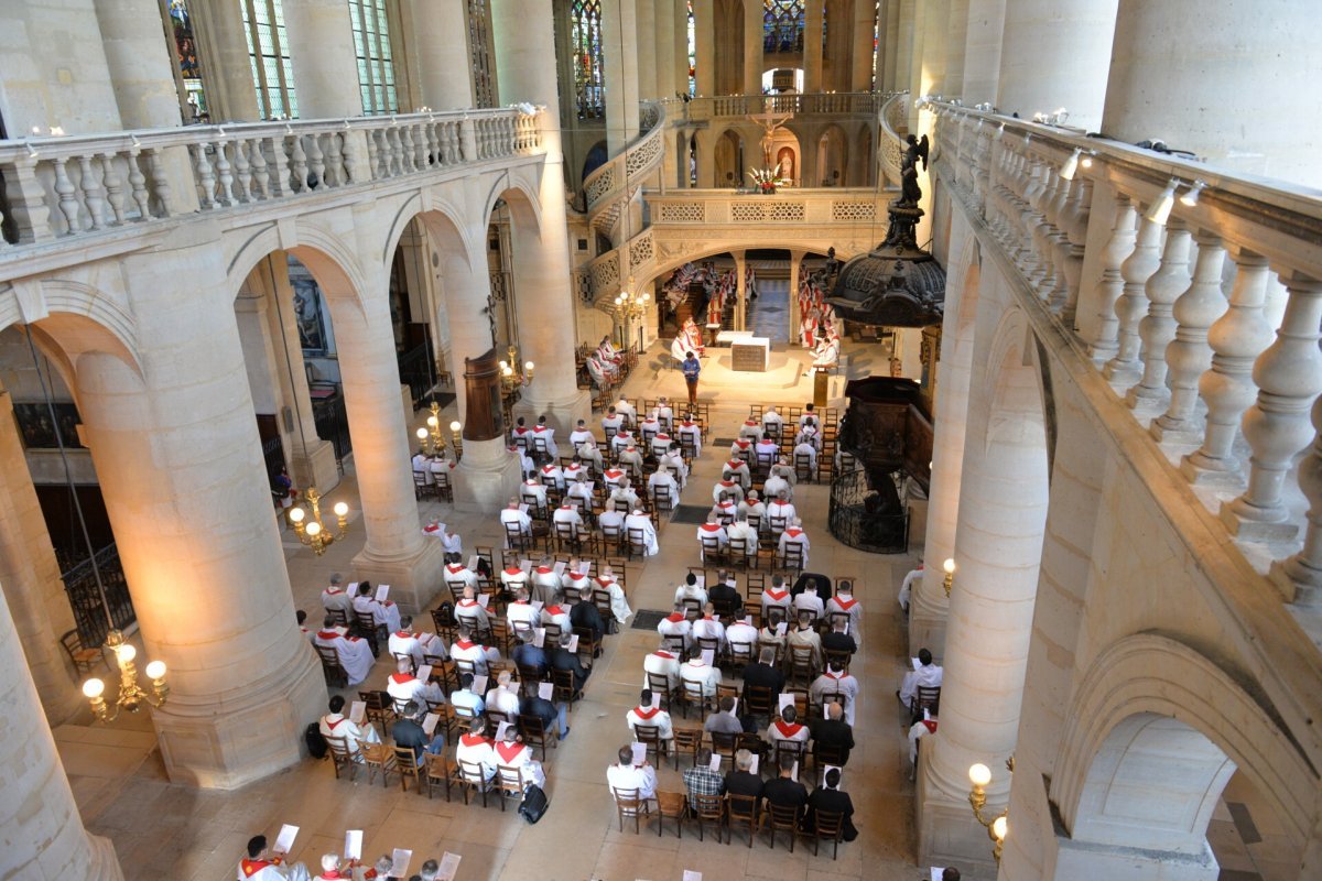
M 999 366 L 994 394 L 970 400 L 941 736 L 919 783 L 920 865 L 990 861 L 986 831 L 968 804 L 968 769 L 974 762 L 1001 769 L 1018 737 L 1048 497 L 1036 376 L 1031 367 L 1010 366 L 1018 357 Z M 1009 774 L 997 773 L 988 791 L 993 814 L 1007 793 Z

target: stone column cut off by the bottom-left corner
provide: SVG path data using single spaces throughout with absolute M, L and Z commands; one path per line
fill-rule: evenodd
M 13 597 L 9 582 L 0 585 Z M 4 831 L 5 874 L 12 878 L 87 878 L 123 881 L 115 847 L 87 835 L 56 738 L 41 716 L 37 687 L 28 674 L 22 641 L 9 606 L 0 602 L 0 737 L 8 746 L 0 829 Z

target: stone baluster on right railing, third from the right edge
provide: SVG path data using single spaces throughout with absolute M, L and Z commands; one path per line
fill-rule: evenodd
M 1240 417 L 1257 394 L 1253 362 L 1272 342 L 1272 325 L 1263 317 L 1266 259 L 1244 248 L 1232 250 L 1231 258 L 1237 272 L 1229 308 L 1207 332 L 1212 366 L 1198 379 L 1199 398 L 1207 404 L 1203 445 L 1179 466 L 1191 482 L 1222 486 L 1240 482 L 1239 458 L 1232 452 L 1235 437 Z

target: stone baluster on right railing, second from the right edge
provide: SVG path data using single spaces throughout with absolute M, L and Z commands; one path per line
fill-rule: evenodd
M 1289 542 L 1298 527 L 1288 522 L 1281 498 L 1294 456 L 1313 439 L 1309 411 L 1322 394 L 1322 281 L 1282 277 L 1288 296 L 1281 329 L 1253 365 L 1257 400 L 1244 413 L 1249 456 L 1248 489 L 1222 505 L 1222 522 L 1249 540 Z

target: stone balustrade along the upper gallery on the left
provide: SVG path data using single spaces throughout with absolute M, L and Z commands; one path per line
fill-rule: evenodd
M 288 120 L 0 144 L 0 251 L 541 151 L 539 111 Z

